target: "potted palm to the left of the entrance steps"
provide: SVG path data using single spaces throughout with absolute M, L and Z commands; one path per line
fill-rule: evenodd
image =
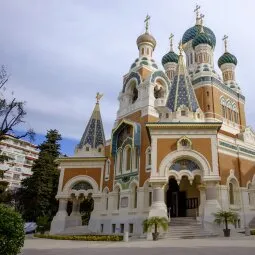
M 162 228 L 164 231 L 168 229 L 168 220 L 165 217 L 151 217 L 143 221 L 144 232 L 151 231 L 154 227 L 154 233 L 152 233 L 153 240 L 158 240 L 159 232 L 158 228 Z

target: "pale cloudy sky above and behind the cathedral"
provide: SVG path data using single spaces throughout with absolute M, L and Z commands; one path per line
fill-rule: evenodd
M 151 16 L 157 40 L 154 59 L 161 66 L 175 35 L 175 51 L 184 32 L 195 24 L 201 6 L 204 25 L 217 43 L 215 66 L 223 53 L 222 37 L 238 59 L 236 78 L 246 96 L 248 125 L 255 128 L 255 23 L 252 0 L 0 0 L 0 65 L 10 74 L 8 89 L 26 101 L 26 125 L 42 141 L 49 129 L 63 137 L 62 152 L 73 154 L 95 105 L 97 92 L 106 138 L 118 110 L 122 79 L 138 56 L 137 37 Z M 250 31 L 250 29 L 252 31 Z M 163 68 L 161 66 L 161 68 Z M 217 68 L 216 68 L 217 69 Z

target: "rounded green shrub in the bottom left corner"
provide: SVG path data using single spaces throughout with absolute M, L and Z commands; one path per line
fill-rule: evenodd
M 17 255 L 25 239 L 24 222 L 12 208 L 0 204 L 0 253 Z

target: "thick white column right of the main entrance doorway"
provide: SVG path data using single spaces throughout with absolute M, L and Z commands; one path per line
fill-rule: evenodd
M 221 209 L 221 206 L 217 200 L 217 188 L 216 181 L 206 182 L 205 188 L 205 206 L 204 206 L 204 220 L 207 222 L 213 222 L 214 216 L 213 213 L 216 213 Z

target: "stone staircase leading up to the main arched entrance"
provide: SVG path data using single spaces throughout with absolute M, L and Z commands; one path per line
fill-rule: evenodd
M 206 230 L 200 222 L 193 217 L 171 218 L 169 231 L 162 238 L 208 238 L 218 234 Z

